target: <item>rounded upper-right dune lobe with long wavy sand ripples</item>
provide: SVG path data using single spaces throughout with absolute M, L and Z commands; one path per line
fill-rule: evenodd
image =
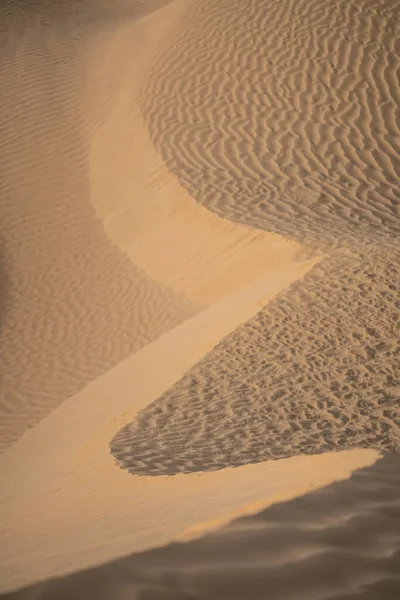
M 397 0 L 202 0 L 141 106 L 169 170 L 223 217 L 328 248 L 400 233 Z

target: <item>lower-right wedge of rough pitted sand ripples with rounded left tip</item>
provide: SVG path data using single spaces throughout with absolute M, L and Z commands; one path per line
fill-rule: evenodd
M 400 252 L 320 263 L 120 430 L 118 464 L 174 475 L 400 451 L 399 279 Z

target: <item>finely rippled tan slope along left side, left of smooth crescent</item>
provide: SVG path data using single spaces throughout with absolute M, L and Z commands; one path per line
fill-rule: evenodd
M 96 111 L 85 41 L 64 35 L 85 6 L 1 7 L 0 449 L 193 314 L 111 244 L 90 204 Z

